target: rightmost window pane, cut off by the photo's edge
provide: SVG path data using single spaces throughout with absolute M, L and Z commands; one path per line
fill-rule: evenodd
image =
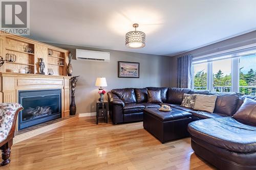
M 256 55 L 240 57 L 239 91 L 243 94 L 255 95 L 256 91 Z

